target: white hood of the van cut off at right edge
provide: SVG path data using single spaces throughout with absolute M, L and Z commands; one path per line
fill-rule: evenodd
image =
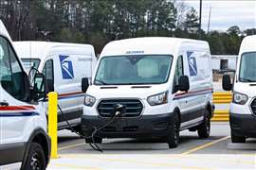
M 247 94 L 248 97 L 253 98 L 256 96 L 256 82 L 243 83 L 238 82 L 234 85 L 234 92 Z

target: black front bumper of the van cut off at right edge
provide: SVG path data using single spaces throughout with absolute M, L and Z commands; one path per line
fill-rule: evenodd
M 230 112 L 229 124 L 236 136 L 256 137 L 256 116 L 252 114 L 236 114 Z

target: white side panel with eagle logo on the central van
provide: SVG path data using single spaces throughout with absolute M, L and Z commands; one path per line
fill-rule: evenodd
M 212 75 L 210 69 L 210 53 L 204 48 L 196 48 L 196 44 L 181 46 L 184 58 L 184 75 L 190 78 L 190 91 L 180 104 L 181 127 L 187 127 L 203 121 L 207 103 L 212 97 Z M 210 97 L 209 97 L 210 96 Z

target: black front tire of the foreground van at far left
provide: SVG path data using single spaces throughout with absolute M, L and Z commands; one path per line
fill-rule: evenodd
M 45 170 L 46 155 L 41 144 L 32 143 L 29 147 L 24 170 Z

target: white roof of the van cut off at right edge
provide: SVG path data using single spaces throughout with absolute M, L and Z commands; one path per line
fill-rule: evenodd
M 247 36 L 240 47 L 240 55 L 245 52 L 255 52 L 256 51 L 256 35 Z

